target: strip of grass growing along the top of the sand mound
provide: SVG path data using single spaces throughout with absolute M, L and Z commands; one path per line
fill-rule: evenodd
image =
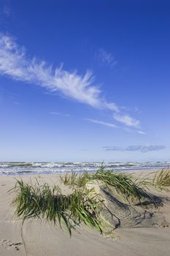
M 147 178 L 137 179 L 132 174 L 121 173 L 114 170 L 104 170 L 101 166 L 96 173 L 77 173 L 61 176 L 61 181 L 65 185 L 83 188 L 88 182 L 100 181 L 102 185 L 109 190 L 115 189 L 117 194 L 125 200 L 131 199 L 132 201 L 141 202 L 144 199 L 151 199 L 151 195 L 144 187 L 149 184 Z

